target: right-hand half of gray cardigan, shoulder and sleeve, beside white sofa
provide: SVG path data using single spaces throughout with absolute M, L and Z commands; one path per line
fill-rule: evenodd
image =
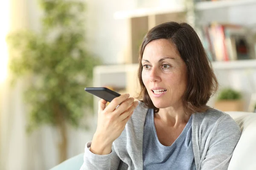
M 230 115 L 216 109 L 194 113 L 193 118 L 192 142 L 195 161 L 206 169 L 223 166 L 227 169 L 230 156 L 241 136 L 239 125 Z M 202 161 L 204 165 L 201 164 Z

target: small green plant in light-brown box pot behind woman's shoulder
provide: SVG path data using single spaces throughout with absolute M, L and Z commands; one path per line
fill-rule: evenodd
M 215 102 L 215 108 L 221 111 L 243 111 L 241 93 L 232 88 L 222 89 Z

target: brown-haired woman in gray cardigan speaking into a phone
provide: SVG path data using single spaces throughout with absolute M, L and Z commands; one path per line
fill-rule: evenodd
M 218 82 L 195 30 L 152 28 L 139 63 L 140 102 L 128 94 L 99 101 L 81 170 L 227 170 L 241 130 L 206 105 Z

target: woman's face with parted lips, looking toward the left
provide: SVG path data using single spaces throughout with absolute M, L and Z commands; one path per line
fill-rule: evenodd
M 176 46 L 166 39 L 149 42 L 142 57 L 142 80 L 156 108 L 183 106 L 186 64 Z

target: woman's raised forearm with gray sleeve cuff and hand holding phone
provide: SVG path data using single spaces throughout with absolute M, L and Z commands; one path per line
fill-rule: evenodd
M 116 155 L 113 142 L 121 135 L 131 118 L 138 101 L 129 94 L 114 98 L 108 106 L 99 100 L 98 123 L 92 142 L 84 151 L 84 163 L 80 170 L 117 170 L 120 159 Z

